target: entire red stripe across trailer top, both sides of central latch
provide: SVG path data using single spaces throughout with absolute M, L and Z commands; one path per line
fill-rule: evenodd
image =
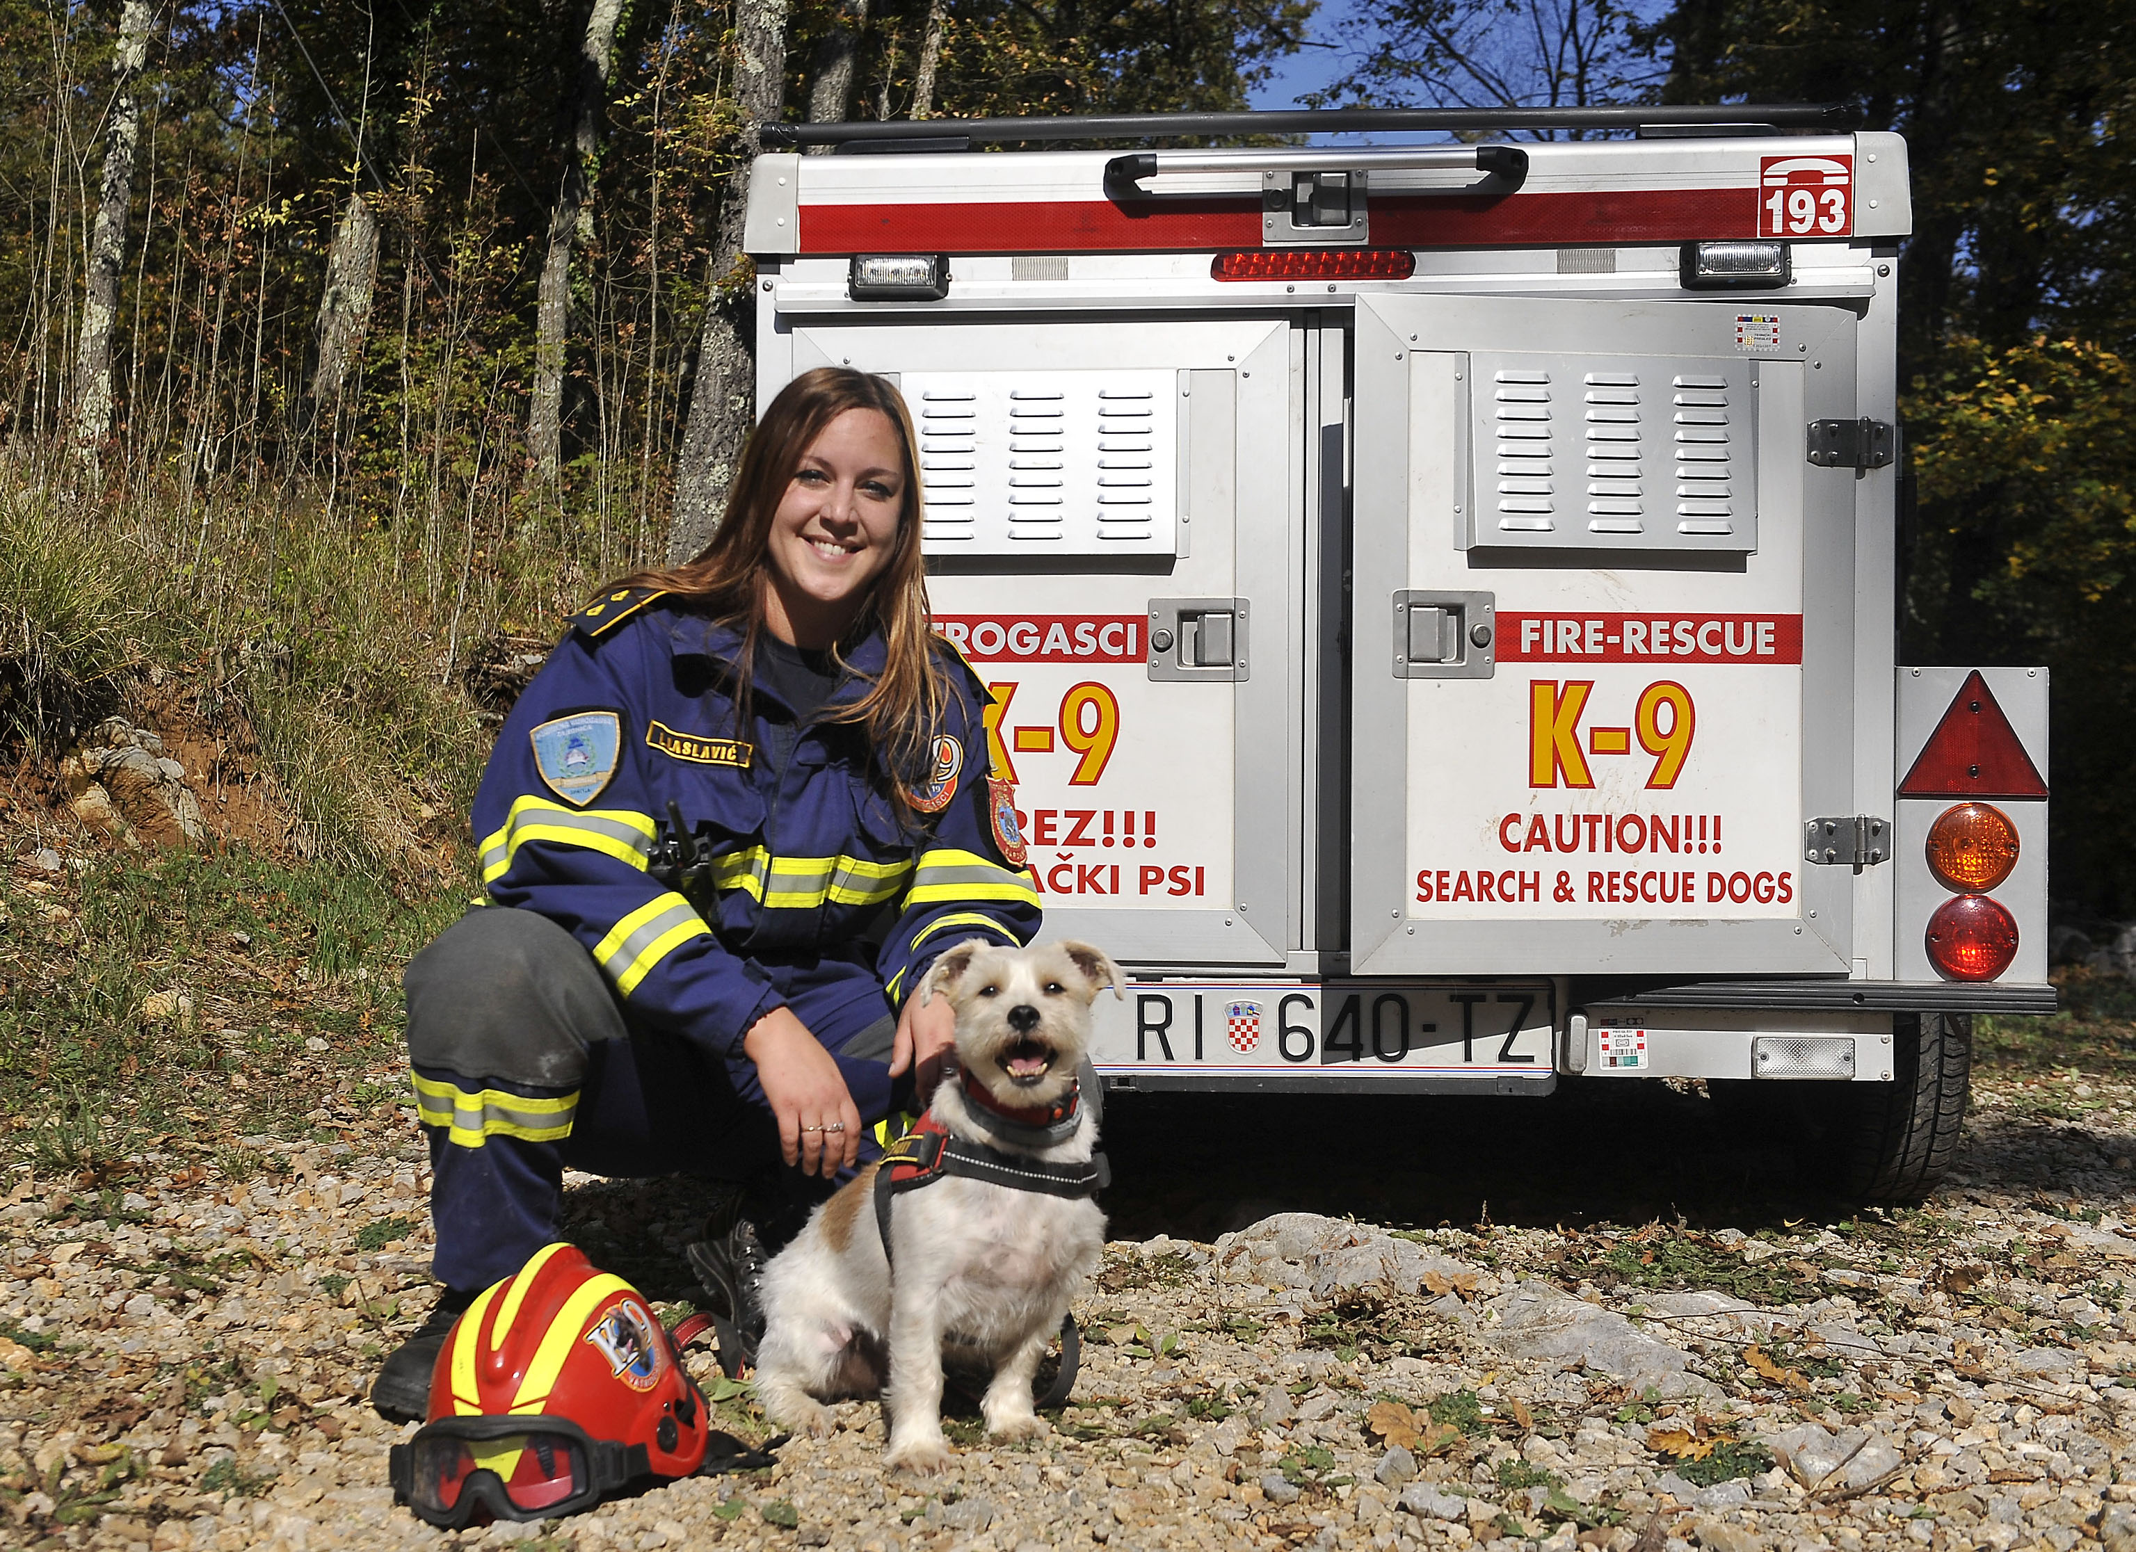
M 1756 188 L 1636 188 L 1465 199 L 1378 194 L 1382 248 L 1687 243 L 1758 235 Z M 1059 254 L 1258 248 L 1252 196 L 801 205 L 803 254 Z

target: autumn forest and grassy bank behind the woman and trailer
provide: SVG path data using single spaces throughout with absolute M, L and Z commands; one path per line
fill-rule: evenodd
M 23 779 L 175 675 L 276 845 L 436 894 L 504 687 L 718 510 L 754 122 L 1228 109 L 1301 58 L 1324 105 L 1907 137 L 1903 660 L 2053 666 L 2057 912 L 2136 916 L 2136 23 L 2080 0 L 0 0 Z

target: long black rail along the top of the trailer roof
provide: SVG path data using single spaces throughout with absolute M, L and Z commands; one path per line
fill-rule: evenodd
M 1393 130 L 1636 130 L 1640 126 L 1728 126 L 1839 130 L 1843 102 L 1459 107 L 1459 109 L 1275 109 L 1243 113 L 1062 113 L 1006 120 L 865 120 L 850 124 L 758 124 L 767 152 L 797 145 L 951 152 L 1012 141 L 1175 141 L 1224 134 L 1363 134 Z M 893 149 L 880 145 L 876 149 Z

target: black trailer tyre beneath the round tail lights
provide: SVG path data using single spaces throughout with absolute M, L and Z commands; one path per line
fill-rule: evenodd
M 1863 1202 L 1918 1202 L 1950 1170 L 1974 1072 L 1969 1014 L 1892 1020 L 1890 1082 L 1848 1084 L 1833 1138 L 1841 1191 Z

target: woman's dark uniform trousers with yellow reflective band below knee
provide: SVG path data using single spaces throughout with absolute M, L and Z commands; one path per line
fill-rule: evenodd
M 861 1161 L 880 1157 L 869 1127 L 893 1108 L 889 999 L 857 1005 L 852 982 L 839 980 L 829 988 L 839 1005 L 812 1010 L 805 973 L 780 980 L 846 1078 Z M 557 1238 L 566 1166 L 737 1185 L 778 1170 L 778 1123 L 756 1065 L 632 1020 L 594 956 L 547 916 L 476 907 L 408 963 L 404 984 L 429 1138 L 431 1270 L 451 1289 L 489 1287 Z M 782 1187 L 788 1198 L 831 1189 L 797 1170 Z

